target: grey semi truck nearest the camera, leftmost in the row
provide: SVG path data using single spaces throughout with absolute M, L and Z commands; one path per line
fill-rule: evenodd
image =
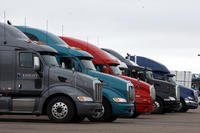
M 56 55 L 55 49 L 0 23 L 1 115 L 48 115 L 54 122 L 79 122 L 102 111 L 101 82 L 62 69 Z

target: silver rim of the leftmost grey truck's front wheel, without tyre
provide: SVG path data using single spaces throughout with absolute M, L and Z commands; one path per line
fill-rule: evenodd
M 52 106 L 52 115 L 57 119 L 63 119 L 68 114 L 68 107 L 63 102 L 57 102 Z

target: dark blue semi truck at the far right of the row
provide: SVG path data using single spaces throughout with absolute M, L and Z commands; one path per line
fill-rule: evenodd
M 179 112 L 187 112 L 188 109 L 198 108 L 198 93 L 196 90 L 193 90 L 182 85 L 178 85 L 174 81 L 174 74 L 171 74 L 168 68 L 157 62 L 155 60 L 142 57 L 142 56 L 130 56 L 132 61 L 137 61 L 138 65 L 151 68 L 153 71 L 153 77 L 163 81 L 167 81 L 171 84 L 179 86 L 180 88 L 180 107 L 178 108 Z

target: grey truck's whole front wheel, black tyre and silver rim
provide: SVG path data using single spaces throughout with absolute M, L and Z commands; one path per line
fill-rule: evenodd
M 47 115 L 54 122 L 71 122 L 75 116 L 75 106 L 67 97 L 55 97 L 47 105 Z

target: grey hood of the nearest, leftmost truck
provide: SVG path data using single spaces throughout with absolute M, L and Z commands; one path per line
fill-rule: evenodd
M 49 85 L 63 84 L 75 87 L 91 97 L 93 97 L 93 88 L 95 83 L 101 83 L 98 79 L 89 75 L 73 72 L 72 70 L 62 69 L 60 67 L 49 68 Z

